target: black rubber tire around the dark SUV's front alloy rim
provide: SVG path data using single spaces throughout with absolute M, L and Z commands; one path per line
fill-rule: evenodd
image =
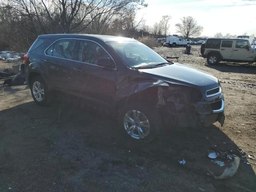
M 125 122 L 125 116 L 126 114 L 128 114 L 128 112 L 132 111 L 132 110 L 137 110 L 140 113 L 140 120 L 138 120 L 139 122 L 142 120 L 143 121 L 143 115 L 146 117 L 146 119 L 148 120 L 148 124 L 149 124 L 149 131 L 148 134 L 144 137 L 144 138 L 135 138 L 133 136 L 131 136 L 130 134 L 128 134 L 128 132 L 126 131 L 126 128 L 128 128 L 129 126 L 132 126 L 132 124 L 128 125 L 126 124 L 127 122 Z M 119 113 L 119 117 L 118 117 L 118 122 L 119 122 L 119 126 L 122 130 L 122 134 L 126 137 L 126 138 L 130 138 L 133 140 L 137 140 L 137 141 L 143 141 L 143 142 L 150 142 L 152 140 L 154 140 L 154 138 L 156 138 L 159 134 L 160 134 L 160 130 L 162 129 L 162 119 L 160 117 L 160 114 L 156 111 L 156 109 L 151 108 L 149 106 L 147 106 L 146 104 L 142 104 L 142 103 L 129 103 L 126 106 L 124 106 L 120 113 Z M 133 126 L 136 126 L 135 124 Z M 134 134 L 139 136 L 139 128 L 142 128 L 143 126 L 138 125 L 138 127 L 134 127 Z M 148 130 L 148 128 L 143 128 L 143 130 Z M 145 131 L 146 133 L 146 131 Z M 140 134 L 140 136 L 142 136 L 142 134 Z

